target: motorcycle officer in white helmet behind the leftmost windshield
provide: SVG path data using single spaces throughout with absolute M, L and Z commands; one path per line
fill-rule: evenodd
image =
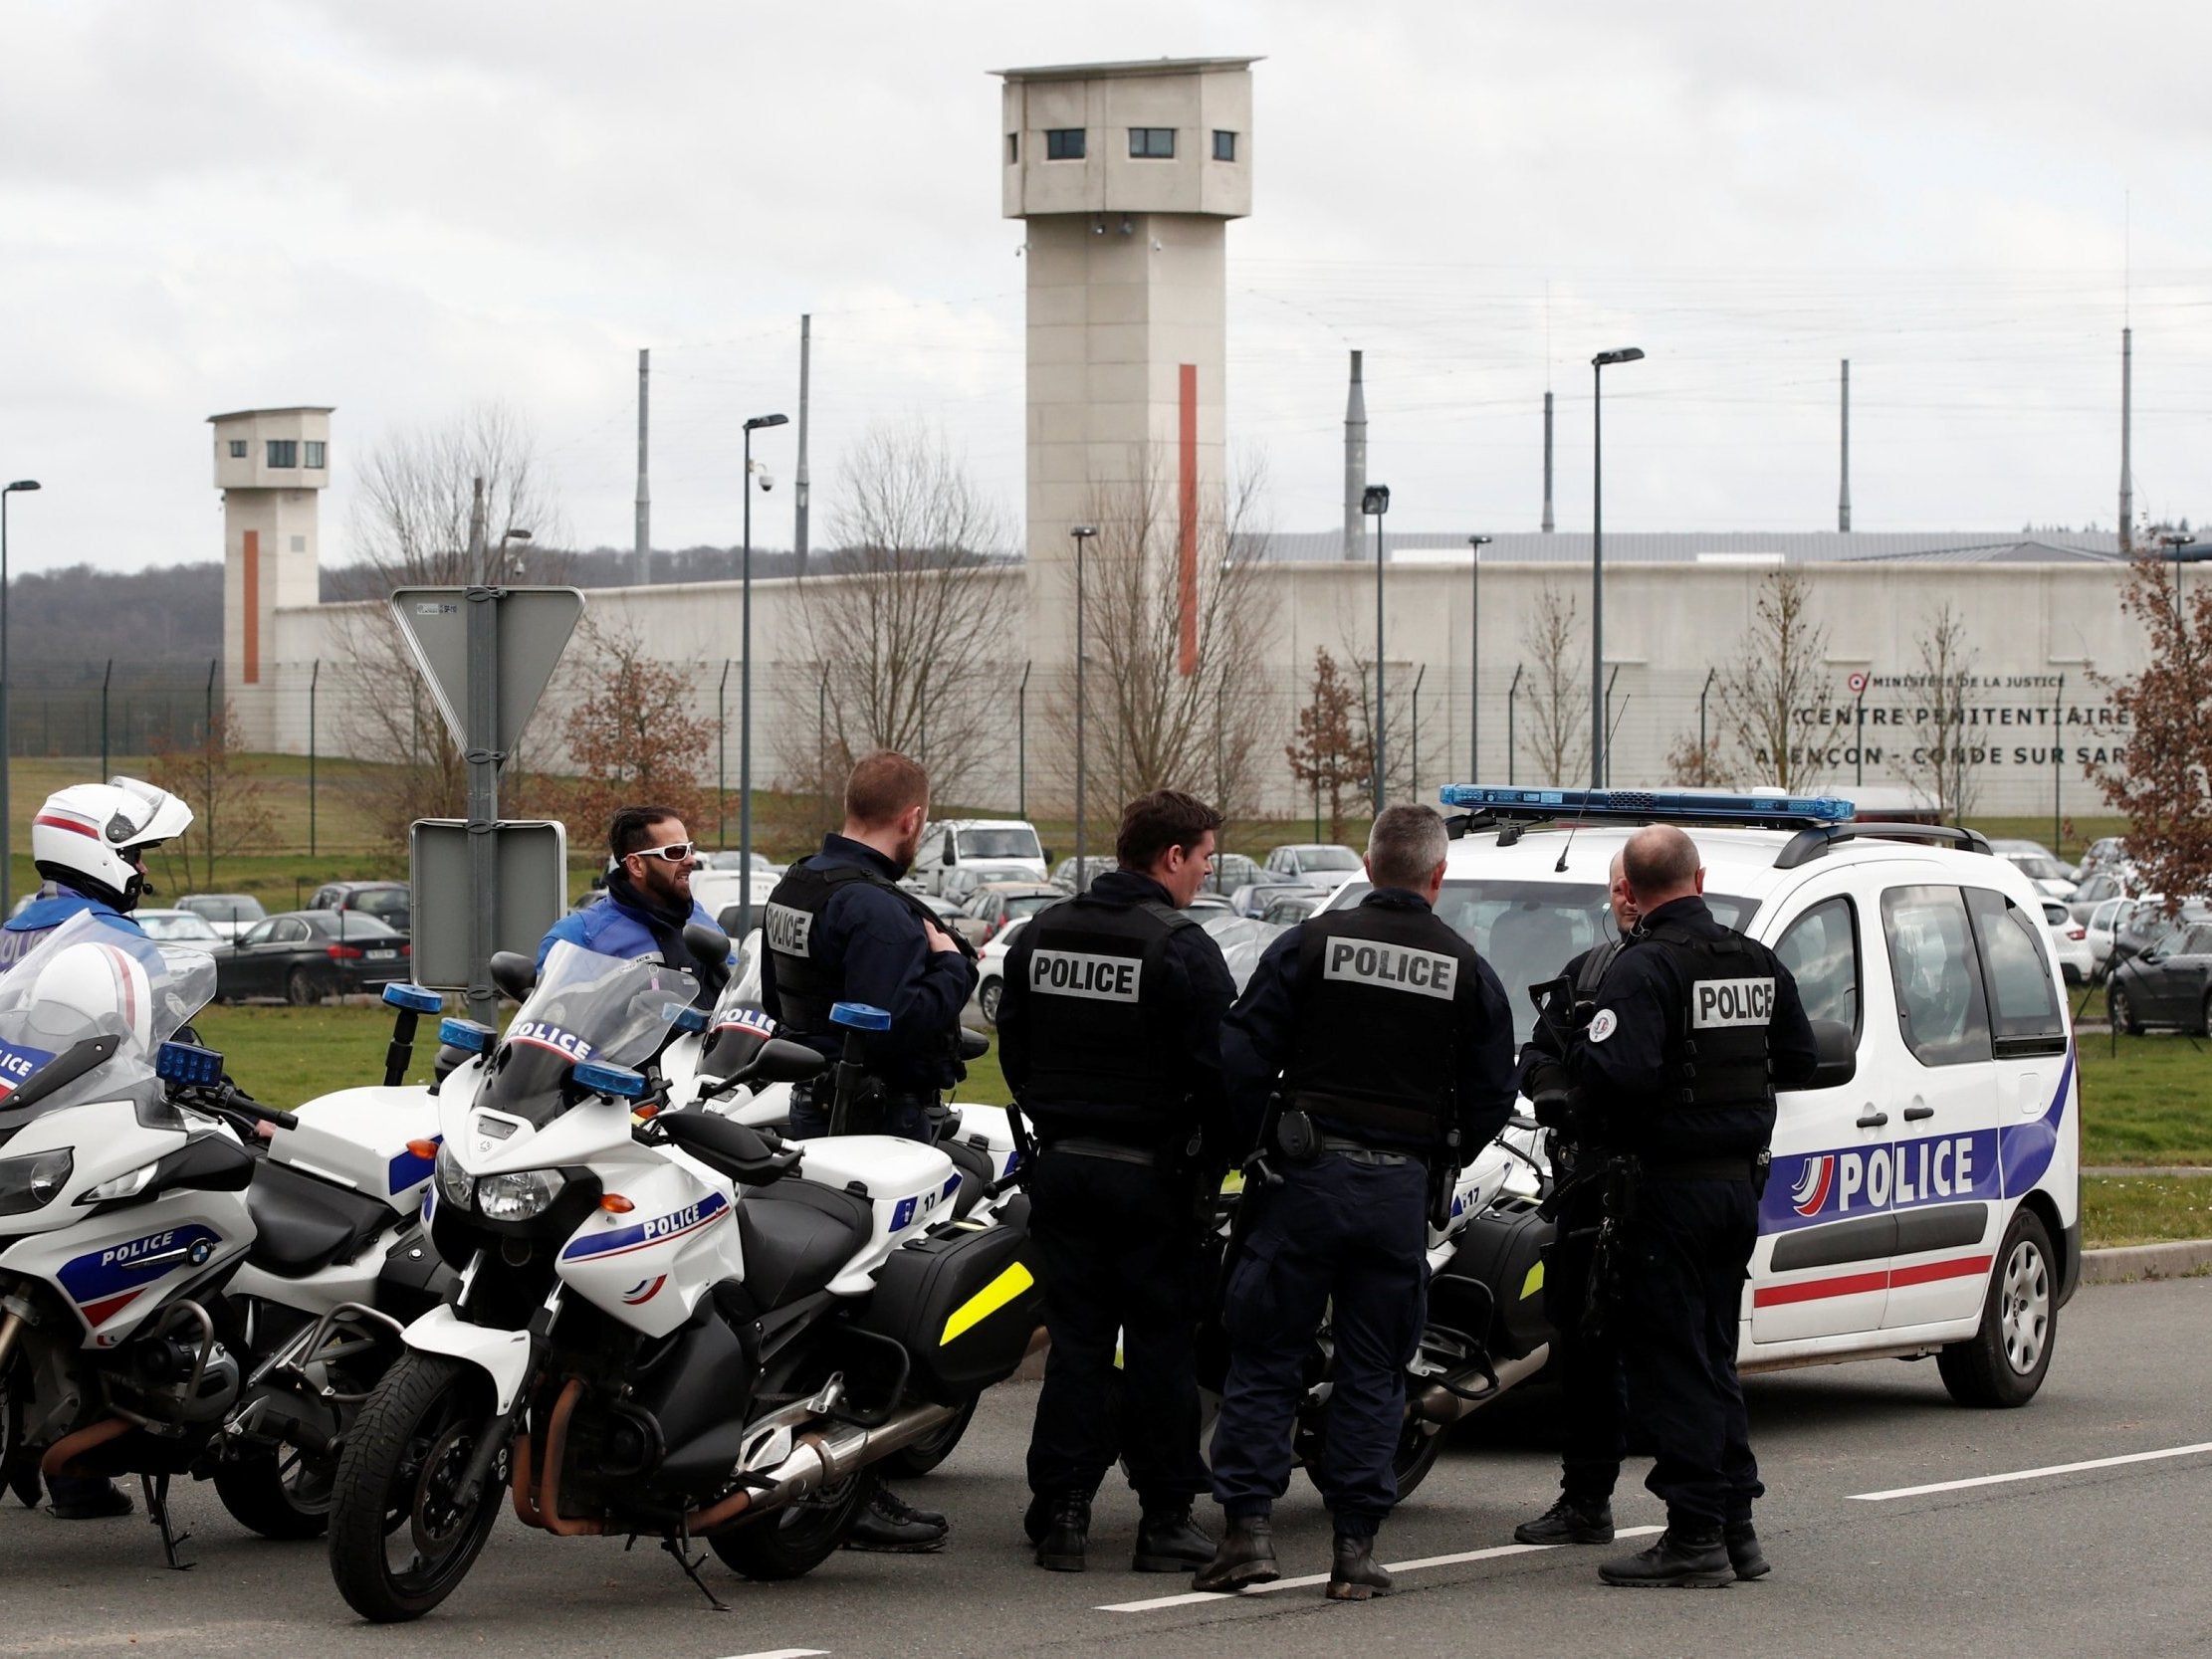
M 146 854 L 190 827 L 192 810 L 184 801 L 137 779 L 73 783 L 49 794 L 31 818 L 31 863 L 46 885 L 0 927 L 0 973 L 71 916 L 91 911 L 139 933 L 131 911 L 146 896 Z M 9 1471 L 9 1484 L 22 1502 L 38 1504 L 35 1469 Z M 51 1475 L 46 1484 L 55 1520 L 131 1513 L 131 1493 L 106 1475 Z

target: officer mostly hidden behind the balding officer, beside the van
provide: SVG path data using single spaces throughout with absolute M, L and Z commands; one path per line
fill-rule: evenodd
M 1559 1502 L 1513 1528 L 1522 1544 L 1610 1544 L 1613 1482 L 1621 1475 L 1621 1356 L 1613 1332 L 1584 1318 L 1590 1254 L 1604 1223 L 1606 1146 L 1593 1113 L 1575 1099 L 1566 1071 L 1568 1044 L 1597 1011 L 1597 987 L 1637 925 L 1619 854 L 1613 854 L 1606 907 L 1613 936 L 1559 971 L 1522 1046 L 1520 1091 L 1535 1108 L 1535 1121 L 1551 1130 L 1555 1188 L 1548 1208 L 1557 1234 L 1544 1252 L 1544 1316 L 1553 1327 L 1551 1365 L 1566 1418 Z

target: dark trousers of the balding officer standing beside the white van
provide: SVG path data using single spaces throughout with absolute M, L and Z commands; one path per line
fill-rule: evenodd
M 1743 1281 L 1759 1243 L 1750 1181 L 1646 1179 L 1624 1259 L 1628 1411 L 1657 1462 L 1670 1526 L 1750 1520 L 1765 1493 L 1736 1383 Z

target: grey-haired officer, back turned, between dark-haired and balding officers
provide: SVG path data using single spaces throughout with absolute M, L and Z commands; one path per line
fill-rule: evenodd
M 1378 814 L 1374 891 L 1267 947 L 1221 1026 L 1230 1108 L 1245 1135 L 1265 1121 L 1283 1155 L 1281 1186 L 1248 1186 L 1252 1228 L 1223 1290 L 1214 1498 L 1228 1531 L 1192 1588 L 1279 1575 L 1267 1517 L 1290 1484 L 1314 1332 L 1334 1310 L 1336 1376 L 1314 1471 L 1336 1526 L 1327 1595 L 1389 1590 L 1374 1537 L 1398 1502 L 1405 1365 L 1427 1310 L 1429 1166 L 1473 1157 L 1513 1110 L 1504 989 L 1431 911 L 1444 849 L 1429 807 Z

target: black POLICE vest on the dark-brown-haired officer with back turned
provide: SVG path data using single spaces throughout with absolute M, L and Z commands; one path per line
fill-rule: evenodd
M 1161 1037 L 1168 940 L 1194 927 L 1157 898 L 1106 905 L 1088 894 L 1029 922 L 1031 1066 L 1024 1108 L 1068 1126 L 1155 1128 L 1183 1086 Z

